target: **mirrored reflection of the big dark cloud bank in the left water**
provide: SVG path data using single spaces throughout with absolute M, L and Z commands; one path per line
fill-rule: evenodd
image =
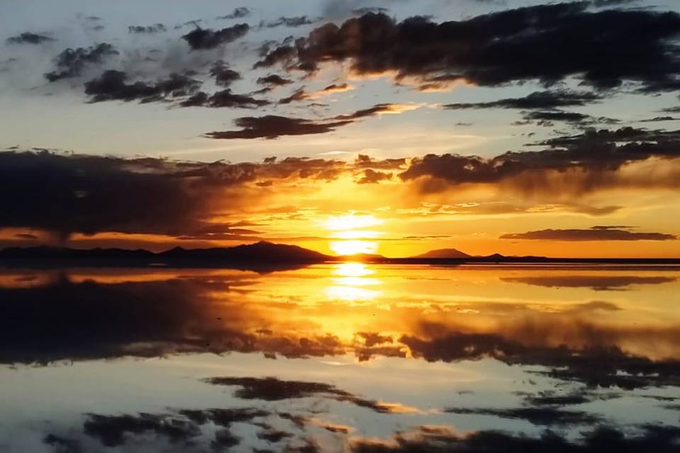
M 329 335 L 259 332 L 268 314 L 239 305 L 242 290 L 253 283 L 252 273 L 112 284 L 70 282 L 59 271 L 45 276 L 45 285 L 0 287 L 0 312 L 11 319 L 0 331 L 0 363 L 47 365 L 189 352 L 305 358 L 348 351 Z M 222 294 L 219 300 L 215 292 Z M 233 302 L 229 315 L 223 311 L 226 299 Z M 55 300 L 60 302 L 50 304 Z M 259 319 L 256 325 L 253 319 Z

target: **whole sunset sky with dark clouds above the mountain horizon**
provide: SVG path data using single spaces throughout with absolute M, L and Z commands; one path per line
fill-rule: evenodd
M 678 257 L 680 5 L 0 0 L 0 246 Z

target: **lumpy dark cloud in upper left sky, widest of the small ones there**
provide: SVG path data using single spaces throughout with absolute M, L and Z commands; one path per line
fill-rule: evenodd
M 126 83 L 128 74 L 110 69 L 101 76 L 85 83 L 85 93 L 90 102 L 102 101 L 140 101 L 142 103 L 163 101 L 166 98 L 179 98 L 195 93 L 201 83 L 180 74 L 170 74 L 168 79 L 149 83 L 136 81 Z

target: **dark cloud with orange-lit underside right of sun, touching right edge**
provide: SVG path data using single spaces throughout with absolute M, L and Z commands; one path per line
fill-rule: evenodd
M 618 130 L 587 130 L 543 140 L 533 146 L 541 151 L 507 151 L 493 158 L 434 155 L 412 159 L 399 173 L 402 180 L 421 180 L 421 190 L 441 191 L 465 183 L 504 185 L 526 195 L 560 190 L 587 193 L 616 187 L 678 187 L 676 173 L 655 179 L 628 176 L 618 170 L 625 164 L 650 157 L 674 159 L 680 156 L 680 133 L 622 127 Z M 673 169 L 675 167 L 670 166 Z M 558 183 L 569 174 L 569 181 Z

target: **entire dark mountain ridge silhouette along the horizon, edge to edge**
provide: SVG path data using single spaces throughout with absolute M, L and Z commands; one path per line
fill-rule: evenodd
M 465 256 L 446 256 L 460 253 Z M 441 256 L 440 256 L 441 255 Z M 467 256 L 465 253 L 441 249 L 412 258 L 387 258 L 380 255 L 330 256 L 288 244 L 259 241 L 234 247 L 181 248 L 154 253 L 144 249 L 67 248 L 51 246 L 9 247 L 0 250 L 0 265 L 54 267 L 86 266 L 169 266 L 188 268 L 228 267 L 245 270 L 285 270 L 304 265 L 359 260 L 375 264 L 633 264 L 680 265 L 680 258 L 549 258 L 545 256 Z

